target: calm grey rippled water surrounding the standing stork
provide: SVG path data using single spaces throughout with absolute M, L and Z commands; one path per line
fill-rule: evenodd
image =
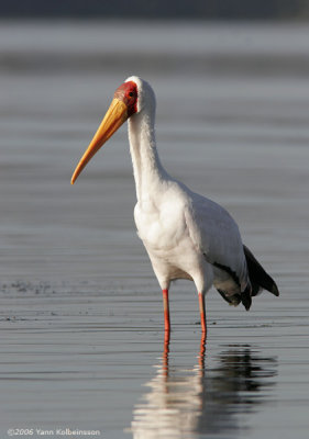
M 306 25 L 0 24 L 1 438 L 308 438 L 308 41 Z M 211 291 L 205 352 L 187 282 L 164 349 L 126 130 L 69 184 L 132 74 L 156 91 L 167 170 L 233 214 L 282 292 L 246 313 Z

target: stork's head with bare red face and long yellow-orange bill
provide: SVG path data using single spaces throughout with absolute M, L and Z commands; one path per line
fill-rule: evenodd
M 88 161 L 113 135 L 113 133 L 131 116 L 143 111 L 145 105 L 155 106 L 155 97 L 151 86 L 143 79 L 132 76 L 128 78 L 113 94 L 113 100 L 108 109 L 97 133 L 79 160 L 73 177 L 71 184 L 82 171 Z

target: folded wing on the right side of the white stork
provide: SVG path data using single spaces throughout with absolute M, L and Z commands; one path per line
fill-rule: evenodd
M 244 291 L 247 267 L 240 230 L 231 215 L 213 201 L 191 193 L 185 217 L 191 240 L 206 260 L 227 271 Z

